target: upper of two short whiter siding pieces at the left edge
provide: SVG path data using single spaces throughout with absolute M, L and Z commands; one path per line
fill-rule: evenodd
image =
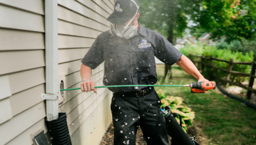
M 0 76 L 0 100 L 12 95 L 8 75 Z M 1 121 L 0 121 L 1 122 Z

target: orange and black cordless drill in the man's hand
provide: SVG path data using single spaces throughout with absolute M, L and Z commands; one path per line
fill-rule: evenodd
M 199 81 L 184 85 L 191 88 L 191 93 L 206 93 L 207 90 L 214 90 L 216 88 L 215 81 Z

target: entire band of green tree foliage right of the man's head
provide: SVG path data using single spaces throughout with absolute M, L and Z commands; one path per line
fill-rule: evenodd
M 226 37 L 228 42 L 256 38 L 256 0 L 139 1 L 140 23 L 171 42 L 182 37 L 185 28 L 192 32 L 212 32 L 212 39 Z

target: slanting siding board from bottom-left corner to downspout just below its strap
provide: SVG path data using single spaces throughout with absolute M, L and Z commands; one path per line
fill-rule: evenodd
M 0 125 L 0 144 L 6 144 L 11 139 L 26 131 L 30 126 L 46 116 L 44 101 L 13 117 Z M 13 128 L 13 129 L 10 129 Z

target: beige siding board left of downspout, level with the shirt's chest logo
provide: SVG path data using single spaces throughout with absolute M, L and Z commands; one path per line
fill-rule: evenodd
M 31 50 L 44 49 L 44 34 L 0 28 L 1 50 Z

